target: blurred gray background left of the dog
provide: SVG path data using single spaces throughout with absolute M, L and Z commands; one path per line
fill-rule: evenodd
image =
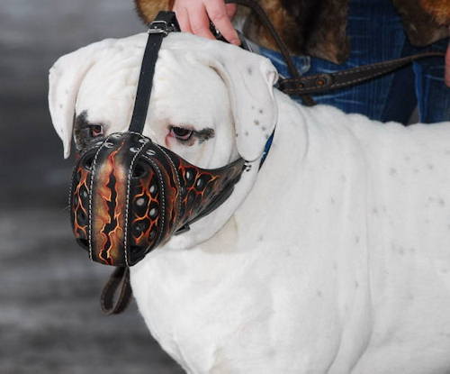
M 131 0 L 0 1 L 0 373 L 181 373 L 134 302 L 103 316 L 111 269 L 69 227 L 73 160 L 50 122 L 47 77 L 59 56 L 145 31 Z

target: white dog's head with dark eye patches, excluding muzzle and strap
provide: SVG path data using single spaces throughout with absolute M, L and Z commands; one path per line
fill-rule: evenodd
M 49 108 L 65 157 L 73 136 L 83 148 L 96 135 L 128 130 L 145 42 L 145 34 L 100 41 L 51 68 Z M 267 59 L 220 41 L 174 33 L 163 42 L 143 134 L 201 168 L 239 156 L 255 164 L 208 228 L 196 223 L 189 244 L 215 233 L 247 195 L 275 127 L 276 78 Z

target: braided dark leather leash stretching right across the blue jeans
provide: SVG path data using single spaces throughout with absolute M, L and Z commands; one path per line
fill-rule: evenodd
M 442 52 L 425 52 L 405 57 L 402 59 L 391 59 L 357 68 L 337 71 L 329 74 L 316 74 L 313 76 L 286 78 L 278 82 L 280 90 L 287 95 L 320 94 L 333 89 L 356 85 L 369 79 L 402 68 L 416 59 L 444 56 Z

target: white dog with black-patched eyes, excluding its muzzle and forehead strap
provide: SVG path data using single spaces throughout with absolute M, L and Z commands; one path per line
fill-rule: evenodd
M 145 42 L 100 41 L 51 68 L 66 157 L 73 133 L 82 147 L 128 129 Z M 189 373 L 450 372 L 450 123 L 304 107 L 276 79 L 220 41 L 163 42 L 144 135 L 202 168 L 239 155 L 250 168 L 130 268 L 150 333 Z

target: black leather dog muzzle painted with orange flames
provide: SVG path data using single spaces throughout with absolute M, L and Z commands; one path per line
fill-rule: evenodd
M 132 266 L 225 201 L 245 161 L 201 169 L 137 132 L 113 133 L 76 162 L 71 222 L 91 260 Z

